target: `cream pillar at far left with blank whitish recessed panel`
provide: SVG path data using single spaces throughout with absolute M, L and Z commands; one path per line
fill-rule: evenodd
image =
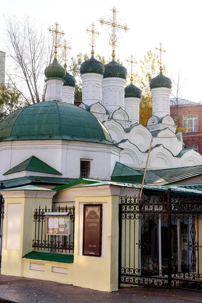
M 2 249 L 2 270 L 3 275 L 23 276 L 22 257 L 32 250 L 32 240 L 34 238 L 33 215 L 36 208 L 52 206 L 52 196 L 55 191 L 5 191 L 5 219 L 4 237 Z M 44 197 L 44 195 L 49 197 Z M 21 205 L 21 226 L 20 226 L 20 249 L 7 249 L 7 209 L 9 204 Z

